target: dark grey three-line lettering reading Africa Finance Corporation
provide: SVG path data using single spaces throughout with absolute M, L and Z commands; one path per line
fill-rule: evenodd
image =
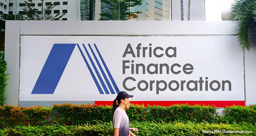
M 123 58 L 132 57 L 132 58 L 140 58 L 140 57 L 148 57 L 148 59 L 152 59 L 153 57 L 161 58 L 176 58 L 177 57 L 177 47 L 153 47 L 152 44 L 149 44 L 146 47 L 141 47 L 141 44 L 138 44 L 136 49 L 133 49 L 131 44 L 127 44 Z M 135 52 L 134 52 L 135 51 Z M 134 59 L 135 60 L 135 59 Z M 137 61 L 132 60 L 123 60 L 122 61 L 122 73 L 123 74 L 142 74 L 142 75 L 157 75 L 157 74 L 180 74 L 184 73 L 183 76 L 188 76 L 194 71 L 194 66 L 191 63 L 186 63 L 181 65 L 179 63 L 138 63 Z M 140 60 L 139 60 L 140 61 Z M 151 62 L 151 61 L 149 61 Z M 123 80 L 123 87 L 127 91 L 133 91 L 138 88 L 140 91 L 150 90 L 153 91 L 153 88 L 156 90 L 156 94 L 159 94 L 159 91 L 165 91 L 167 89 L 171 91 L 218 91 L 222 90 L 225 91 L 225 85 L 228 87 L 228 91 L 231 91 L 231 82 L 229 80 L 212 80 L 208 81 L 208 77 L 199 77 L 199 80 L 181 80 L 177 81 L 174 79 L 170 79 L 169 81 L 166 80 L 140 80 L 137 81 L 134 77 L 126 77 Z M 136 83 L 137 85 L 128 85 L 127 83 Z M 193 86 L 193 87 L 191 87 Z

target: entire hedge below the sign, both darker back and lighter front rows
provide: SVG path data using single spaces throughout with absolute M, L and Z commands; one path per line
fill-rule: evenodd
M 53 107 L 0 106 L 0 136 L 110 136 L 111 106 L 54 104 Z M 251 136 L 256 135 L 256 105 L 230 106 L 220 116 L 217 107 L 199 105 L 131 105 L 126 111 L 137 136 Z M 59 118 L 51 113 L 58 112 Z M 202 133 L 252 131 L 252 133 Z

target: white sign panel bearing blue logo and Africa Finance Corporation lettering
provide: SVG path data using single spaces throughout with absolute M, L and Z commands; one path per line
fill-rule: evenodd
M 21 36 L 20 101 L 242 101 L 235 36 Z

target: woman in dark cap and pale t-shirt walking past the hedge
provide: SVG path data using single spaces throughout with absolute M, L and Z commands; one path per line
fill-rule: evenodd
M 132 97 L 133 95 L 120 91 L 113 101 L 113 136 L 136 136 L 130 130 L 138 132 L 137 128 L 129 128 L 129 118 L 125 112 L 130 107 L 129 98 Z M 116 101 L 118 105 L 116 105 Z

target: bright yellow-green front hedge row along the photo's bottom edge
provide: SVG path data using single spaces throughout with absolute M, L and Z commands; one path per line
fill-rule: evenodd
M 256 135 L 256 126 L 251 124 L 209 124 L 209 123 L 153 123 L 130 122 L 140 133 L 137 136 L 252 136 Z M 219 130 L 219 133 L 203 133 Z M 223 131 L 252 131 L 252 133 L 223 133 Z M 98 123 L 80 126 L 15 126 L 0 129 L 2 136 L 111 136 L 112 123 Z

